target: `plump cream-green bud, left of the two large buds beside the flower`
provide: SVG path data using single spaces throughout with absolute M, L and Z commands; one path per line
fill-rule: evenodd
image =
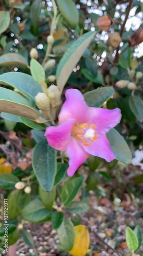
M 38 109 L 45 110 L 49 108 L 49 98 L 46 96 L 45 93 L 38 93 L 35 97 L 35 101 Z

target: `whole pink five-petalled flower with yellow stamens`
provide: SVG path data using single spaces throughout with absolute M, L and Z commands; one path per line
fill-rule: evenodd
M 107 162 L 116 158 L 106 133 L 120 120 L 120 109 L 89 108 L 78 90 L 69 89 L 59 115 L 59 125 L 47 127 L 45 136 L 50 146 L 67 152 L 67 174 L 73 176 L 90 154 Z

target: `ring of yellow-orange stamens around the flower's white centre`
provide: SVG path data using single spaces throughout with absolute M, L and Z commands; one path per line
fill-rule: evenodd
M 89 129 L 94 130 L 93 138 L 84 137 L 85 133 L 88 132 Z M 88 123 L 75 123 L 72 129 L 72 136 L 81 140 L 84 146 L 90 146 L 91 143 L 97 140 L 96 126 Z

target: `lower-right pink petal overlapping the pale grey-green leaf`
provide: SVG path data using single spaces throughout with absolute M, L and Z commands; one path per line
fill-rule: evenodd
M 80 145 L 82 144 L 80 143 Z M 115 154 L 110 149 L 110 144 L 106 138 L 106 135 L 100 136 L 90 146 L 82 145 L 82 147 L 90 155 L 104 158 L 107 162 L 110 162 L 116 158 Z

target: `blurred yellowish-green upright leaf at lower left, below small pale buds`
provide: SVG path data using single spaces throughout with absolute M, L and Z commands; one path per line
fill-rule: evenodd
M 19 215 L 19 197 L 21 191 L 14 189 L 8 196 L 8 218 L 15 219 Z

